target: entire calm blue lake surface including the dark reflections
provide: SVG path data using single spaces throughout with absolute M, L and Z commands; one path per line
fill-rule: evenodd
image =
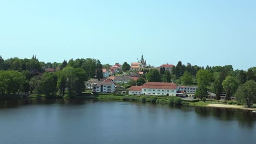
M 256 114 L 85 100 L 0 101 L 0 143 L 256 143 Z

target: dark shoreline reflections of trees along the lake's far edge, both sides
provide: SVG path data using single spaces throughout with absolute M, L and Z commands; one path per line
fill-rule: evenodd
M 86 105 L 88 103 L 100 103 L 97 101 L 88 101 L 83 99 L 20 99 L 20 100 L 0 100 L 0 109 L 18 108 L 28 105 Z M 122 105 L 131 103 L 122 103 Z M 238 127 L 253 129 L 256 122 L 256 113 L 247 110 L 225 109 L 217 107 L 190 107 L 190 106 L 171 106 L 154 105 L 150 103 L 132 103 L 136 105 L 137 111 L 142 111 L 144 106 L 148 107 L 148 112 L 155 112 L 154 107 L 164 107 L 164 109 L 178 109 L 182 112 L 195 112 L 200 117 L 210 117 L 219 121 L 235 121 Z

